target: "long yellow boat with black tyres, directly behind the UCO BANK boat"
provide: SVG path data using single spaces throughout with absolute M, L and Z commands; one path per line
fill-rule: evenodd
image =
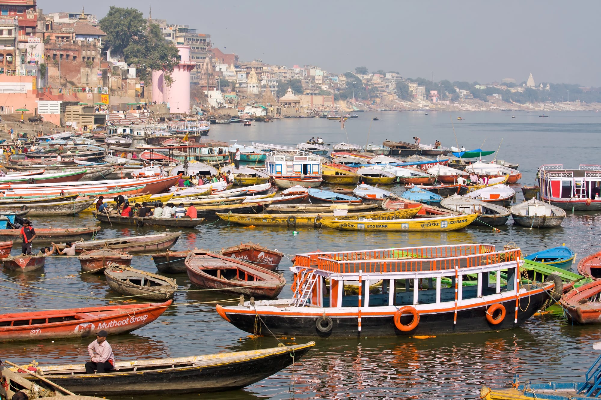
M 370 218 L 373 220 L 392 220 L 398 218 L 410 218 L 418 213 L 419 208 L 407 208 L 406 210 L 394 211 L 370 211 L 368 213 L 352 213 L 347 216 L 334 216 L 334 213 L 321 214 L 234 214 L 234 213 L 216 213 L 219 218 L 228 223 L 237 223 L 238 225 L 254 226 L 296 226 L 307 228 L 319 228 L 322 226 L 322 220 L 332 219 L 358 219 Z

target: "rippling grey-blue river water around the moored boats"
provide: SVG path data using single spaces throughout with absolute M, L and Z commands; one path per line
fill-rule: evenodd
M 563 112 L 538 118 L 537 112 L 373 112 L 359 113 L 340 123 L 305 118 L 239 125 L 212 126 L 210 138 L 240 143 L 252 141 L 295 145 L 312 136 L 325 142 L 367 142 L 385 139 L 422 143 L 440 140 L 442 145 L 459 145 L 496 150 L 498 159 L 519 163 L 521 184 L 534 183 L 538 166 L 563 163 L 566 168 L 599 163 L 598 138 L 601 114 Z M 456 117 L 463 117 L 457 121 Z M 377 117 L 379 121 L 373 121 Z M 517 189 L 517 187 L 516 187 Z M 398 189 L 397 189 L 398 190 Z M 519 189 L 518 201 L 521 201 Z M 247 241 L 284 252 L 313 250 L 358 250 L 448 243 L 490 243 L 502 246 L 515 242 L 525 253 L 566 243 L 582 256 L 599 251 L 600 215 L 568 213 L 561 228 L 537 230 L 507 225 L 501 232 L 468 226 L 459 232 L 345 232 L 299 228 L 245 228 L 224 223 L 204 223 L 183 232 L 174 250 L 194 247 L 219 250 Z M 91 214 L 75 217 L 36 217 L 34 227 L 82 227 L 99 224 Z M 159 232 L 149 228 L 103 225 L 98 238 Z M 16 253 L 14 247 L 13 253 Z M 288 259 L 279 270 L 291 282 Z M 132 266 L 156 271 L 150 256 L 135 256 Z M 574 265 L 575 267 L 575 265 Z M 47 258 L 41 272 L 27 274 L 0 271 L 3 312 L 31 309 L 60 309 L 107 305 L 111 292 L 103 276 L 79 274 L 77 258 Z M 109 338 L 118 360 L 181 357 L 217 351 L 251 350 L 277 345 L 275 338 L 249 338 L 215 312 L 215 300 L 235 296 L 194 291 L 186 274 L 175 276 L 179 288 L 177 306 L 157 321 L 126 335 Z M 32 287 L 19 286 L 25 283 Z M 291 296 L 289 286 L 280 297 Z M 194 304 L 191 304 L 194 303 Z M 201 304 L 199 304 L 201 303 Z M 18 309 L 16 309 L 18 308 Z M 571 326 L 561 311 L 533 317 L 519 329 L 472 335 L 438 336 L 430 339 L 317 339 L 317 346 L 300 362 L 265 380 L 235 392 L 202 395 L 203 399 L 313 399 L 313 398 L 478 398 L 482 384 L 507 386 L 514 372 L 522 380 L 578 379 L 597 357 L 593 342 L 601 340 L 597 326 Z M 26 363 L 32 359 L 46 365 L 84 363 L 91 339 L 0 343 L 0 359 Z M 281 339 L 284 343 L 302 339 Z M 163 396 L 196 399 L 197 395 Z M 142 397 L 140 397 L 142 398 Z M 145 398 L 149 398 L 145 396 Z M 154 398 L 154 397 L 150 397 Z M 156 397 L 157 399 L 160 396 Z

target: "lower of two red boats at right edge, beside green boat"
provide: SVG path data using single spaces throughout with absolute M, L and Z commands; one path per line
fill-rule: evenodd
M 598 324 L 601 319 L 601 280 L 570 290 L 560 300 L 568 320 L 577 324 Z

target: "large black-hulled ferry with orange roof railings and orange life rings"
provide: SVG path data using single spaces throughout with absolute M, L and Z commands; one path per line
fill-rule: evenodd
M 554 282 L 522 284 L 522 265 L 520 249 L 497 251 L 490 244 L 297 254 L 290 268 L 292 298 L 218 305 L 217 312 L 254 335 L 334 338 L 511 329 L 541 309 L 550 293 L 561 295 L 561 280 L 552 275 Z M 472 279 L 475 285 L 463 285 Z M 365 290 L 380 280 L 381 291 Z M 449 280 L 450 285 L 443 283 Z M 358 294 L 347 294 L 348 284 L 358 286 Z

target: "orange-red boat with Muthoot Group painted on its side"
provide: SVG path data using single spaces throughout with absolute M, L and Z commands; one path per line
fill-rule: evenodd
M 0 341 L 87 338 L 99 330 L 109 335 L 132 332 L 159 318 L 171 301 L 0 314 Z

